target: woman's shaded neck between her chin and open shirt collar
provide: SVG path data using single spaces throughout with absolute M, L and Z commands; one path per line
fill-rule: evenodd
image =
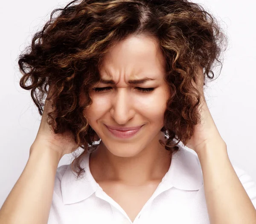
M 169 170 L 171 156 L 154 139 L 148 147 L 132 157 L 120 157 L 111 153 L 103 144 L 90 155 L 90 170 L 98 181 L 118 181 L 127 185 L 143 185 L 161 180 Z M 164 140 L 164 136 L 161 137 Z

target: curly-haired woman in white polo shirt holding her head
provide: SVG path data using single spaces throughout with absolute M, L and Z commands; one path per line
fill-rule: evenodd
M 42 120 L 0 223 L 256 223 L 204 98 L 226 40 L 214 18 L 186 0 L 75 2 L 20 55 Z

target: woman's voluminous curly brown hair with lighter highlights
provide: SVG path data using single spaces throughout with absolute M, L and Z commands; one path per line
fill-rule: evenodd
M 83 149 L 71 163 L 77 178 L 84 173 L 82 157 L 95 146 L 96 133 L 83 111 L 92 103 L 90 93 L 100 81 L 99 68 L 111 46 L 131 35 L 159 41 L 167 65 L 165 81 L 171 92 L 161 131 L 167 136 L 165 149 L 171 155 L 177 152 L 177 144 L 181 141 L 186 145 L 200 122 L 200 92 L 192 85 L 198 66 L 204 68 L 204 81 L 213 79 L 215 62 L 222 68 L 220 56 L 227 37 L 218 21 L 201 5 L 188 0 L 76 2 L 52 11 L 50 20 L 19 55 L 18 65 L 23 74 L 20 86 L 31 89 L 40 115 L 47 86 L 55 87 L 55 109 L 48 113 L 48 121 L 55 133 L 70 130 Z M 31 84 L 26 85 L 28 79 Z

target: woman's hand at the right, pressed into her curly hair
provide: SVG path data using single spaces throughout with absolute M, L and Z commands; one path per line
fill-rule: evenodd
M 210 145 L 211 142 L 220 141 L 224 143 L 224 140 L 218 132 L 204 97 L 204 74 L 201 67 L 198 69 L 196 82 L 193 82 L 193 84 L 201 92 L 201 105 L 199 106 L 201 123 L 195 125 L 193 136 L 189 139 L 186 146 L 198 154 L 199 151 L 204 150 L 205 146 Z

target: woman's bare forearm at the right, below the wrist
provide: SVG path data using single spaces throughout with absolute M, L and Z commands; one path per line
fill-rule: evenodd
M 227 154 L 224 141 L 200 150 L 204 192 L 211 224 L 256 224 L 256 210 Z

